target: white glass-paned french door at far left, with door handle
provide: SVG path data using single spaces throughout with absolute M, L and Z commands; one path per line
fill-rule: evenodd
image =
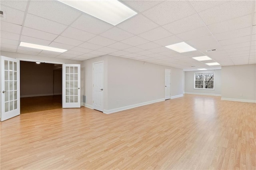
M 20 60 L 1 56 L 1 121 L 20 115 Z

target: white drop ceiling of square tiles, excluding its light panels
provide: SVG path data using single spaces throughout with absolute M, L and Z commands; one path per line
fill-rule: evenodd
M 113 26 L 56 0 L 1 0 L 1 51 L 84 61 L 125 57 L 192 71 L 256 64 L 255 1 L 121 1 L 138 14 Z M 68 49 L 20 47 L 20 42 Z M 186 42 L 196 51 L 165 46 Z M 216 49 L 206 52 L 206 50 Z M 204 56 L 208 61 L 192 57 Z M 220 65 L 206 65 L 218 62 Z M 191 67 L 195 66 L 195 67 Z

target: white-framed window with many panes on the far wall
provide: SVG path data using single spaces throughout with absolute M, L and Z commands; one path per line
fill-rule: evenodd
M 195 89 L 214 89 L 214 73 L 194 73 Z

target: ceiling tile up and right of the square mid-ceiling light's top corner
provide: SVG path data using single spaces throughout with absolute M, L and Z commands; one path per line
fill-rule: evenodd
M 177 34 L 177 36 L 179 38 L 181 38 L 182 40 L 185 40 L 185 41 L 195 39 L 195 38 L 204 37 L 204 36 L 210 36 L 210 35 L 211 35 L 211 32 L 208 30 L 207 27 L 201 27 L 201 28 L 197 28 L 192 31 Z

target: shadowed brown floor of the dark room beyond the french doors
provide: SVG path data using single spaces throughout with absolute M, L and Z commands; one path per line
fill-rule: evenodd
M 62 108 L 62 95 L 20 98 L 20 114 L 60 108 Z

